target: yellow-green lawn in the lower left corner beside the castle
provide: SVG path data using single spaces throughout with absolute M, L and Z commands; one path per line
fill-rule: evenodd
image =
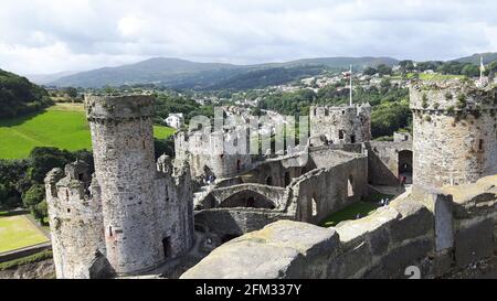
M 0 252 L 15 250 L 42 243 L 46 236 L 36 228 L 27 215 L 0 213 Z

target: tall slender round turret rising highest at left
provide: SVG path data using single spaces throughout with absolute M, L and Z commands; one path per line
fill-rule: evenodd
M 117 275 L 163 262 L 155 221 L 154 98 L 86 96 L 107 259 Z

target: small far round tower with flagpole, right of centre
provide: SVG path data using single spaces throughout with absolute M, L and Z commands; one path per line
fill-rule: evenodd
M 371 106 L 310 107 L 311 143 L 361 143 L 371 140 Z

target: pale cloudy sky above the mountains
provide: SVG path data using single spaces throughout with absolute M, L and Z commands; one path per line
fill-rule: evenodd
M 236 64 L 497 51 L 497 1 L 1 0 L 0 68 L 85 71 L 154 56 Z

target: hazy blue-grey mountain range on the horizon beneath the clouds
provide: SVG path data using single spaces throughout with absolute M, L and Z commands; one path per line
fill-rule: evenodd
M 497 61 L 497 53 L 484 54 L 486 63 Z M 454 61 L 479 64 L 479 54 Z M 156 57 L 136 64 L 82 72 L 54 77 L 50 82 L 35 83 L 57 87 L 99 88 L 133 84 L 156 84 L 177 89 L 246 89 L 286 84 L 324 71 L 355 69 L 385 64 L 394 66 L 392 57 L 321 57 L 285 63 L 234 65 L 222 63 L 195 63 L 178 58 Z M 45 78 L 49 78 L 45 76 Z

